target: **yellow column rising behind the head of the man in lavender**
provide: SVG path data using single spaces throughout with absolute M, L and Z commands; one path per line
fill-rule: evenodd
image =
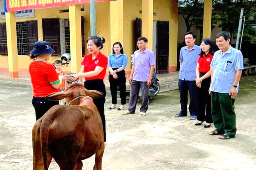
M 148 39 L 148 49 L 153 49 L 153 0 L 142 0 L 142 36 Z

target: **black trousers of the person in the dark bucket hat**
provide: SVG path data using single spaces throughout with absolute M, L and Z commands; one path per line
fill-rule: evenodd
M 32 98 L 32 105 L 35 108 L 36 119 L 40 119 L 52 106 L 59 104 L 59 101 L 47 100 L 44 97 Z

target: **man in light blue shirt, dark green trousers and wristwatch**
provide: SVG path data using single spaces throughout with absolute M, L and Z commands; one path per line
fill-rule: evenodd
M 238 92 L 239 81 L 242 74 L 243 55 L 241 51 L 229 45 L 230 34 L 220 32 L 216 35 L 216 51 L 211 67 L 212 81 L 210 93 L 212 95 L 212 116 L 215 131 L 210 135 L 220 134 L 219 139 L 234 138 L 236 134 L 236 121 L 234 112 L 234 98 Z

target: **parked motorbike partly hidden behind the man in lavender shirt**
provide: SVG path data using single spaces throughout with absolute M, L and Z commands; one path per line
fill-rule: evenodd
M 133 54 L 131 55 L 133 57 Z M 132 69 L 133 64 L 131 65 L 131 69 Z M 159 84 L 159 80 L 157 79 L 157 74 L 155 72 L 153 72 L 153 76 L 152 76 L 152 83 L 149 86 L 148 89 L 148 103 L 150 101 L 150 99 L 152 99 L 153 96 L 156 96 L 158 93 L 160 92 L 160 84 Z M 139 97 L 142 97 L 142 90 L 141 87 L 139 89 Z

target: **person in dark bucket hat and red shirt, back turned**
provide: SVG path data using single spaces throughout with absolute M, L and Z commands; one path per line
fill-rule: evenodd
M 51 101 L 45 98 L 52 92 L 59 92 L 63 76 L 58 74 L 51 63 L 47 61 L 55 51 L 50 47 L 49 42 L 39 41 L 33 45 L 30 51 L 29 74 L 33 87 L 32 104 L 35 108 L 36 119 L 40 119 L 52 106 L 59 104 L 59 101 Z M 59 79 L 60 78 L 60 79 Z

